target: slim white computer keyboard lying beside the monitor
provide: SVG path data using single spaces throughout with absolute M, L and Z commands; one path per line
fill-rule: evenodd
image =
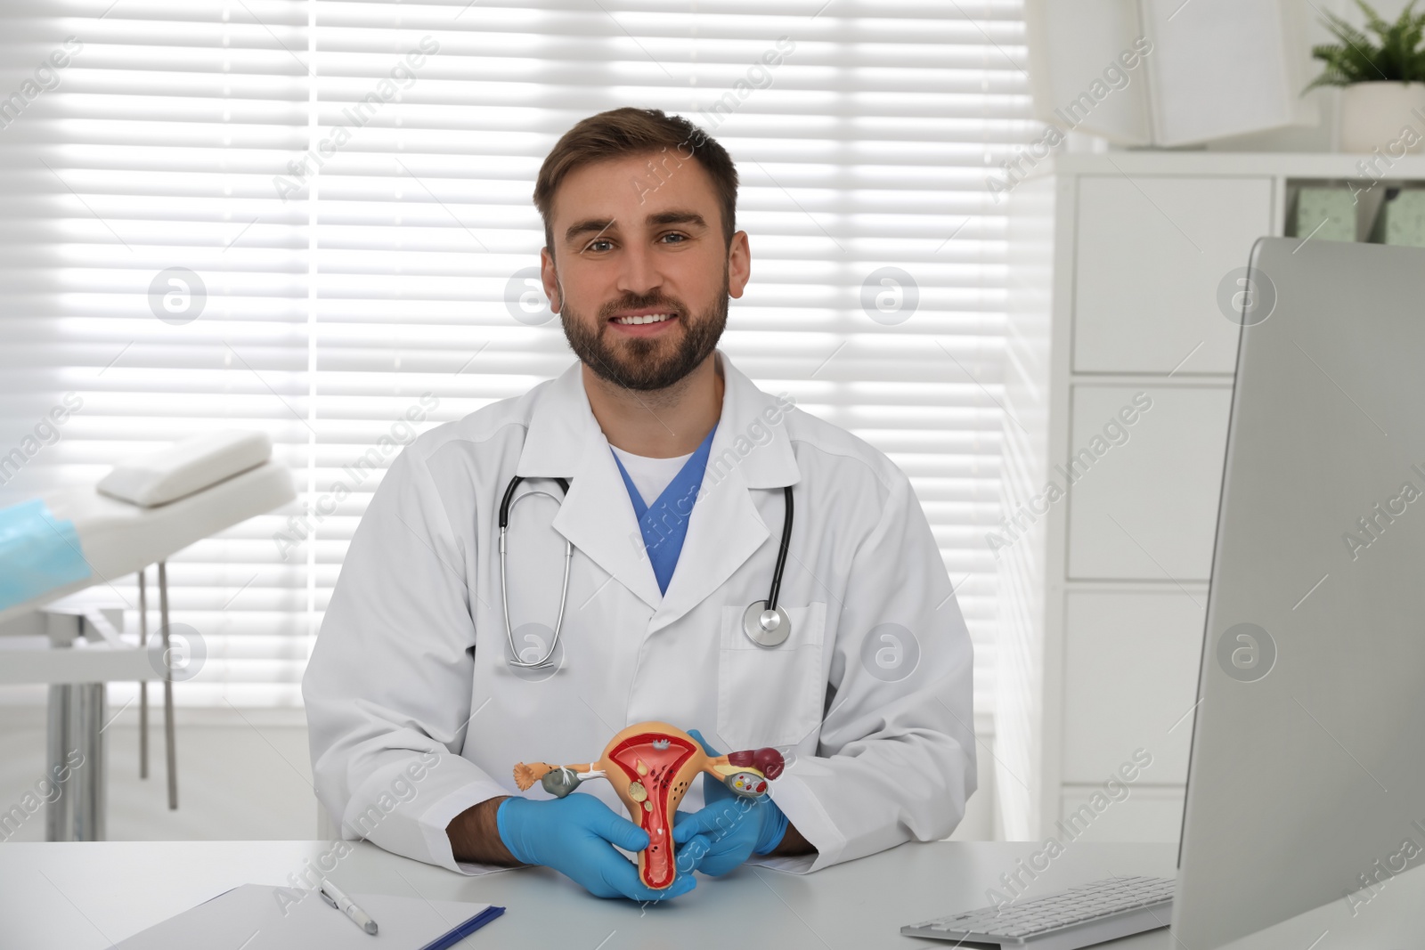
M 906 924 L 901 933 L 1000 947 L 1074 950 L 1166 927 L 1171 916 L 1171 879 L 1109 877 L 999 910 L 980 907 Z

